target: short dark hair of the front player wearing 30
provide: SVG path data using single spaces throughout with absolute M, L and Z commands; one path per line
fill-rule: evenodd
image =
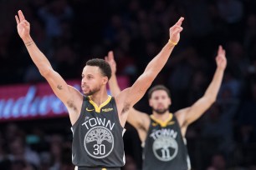
M 104 59 L 100 59 L 100 58 L 93 58 L 90 59 L 86 62 L 86 66 L 96 66 L 96 67 L 100 67 L 100 71 L 102 73 L 103 76 L 106 76 L 110 79 L 111 77 L 111 67 L 110 64 L 108 62 L 105 62 Z

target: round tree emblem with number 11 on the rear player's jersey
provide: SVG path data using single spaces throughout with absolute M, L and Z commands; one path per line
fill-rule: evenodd
M 153 143 L 153 153 L 160 161 L 171 161 L 177 156 L 178 145 L 174 138 L 162 136 Z

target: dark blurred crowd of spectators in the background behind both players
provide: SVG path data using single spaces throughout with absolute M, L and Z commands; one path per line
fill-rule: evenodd
M 79 79 L 89 58 L 113 50 L 117 74 L 131 82 L 182 16 L 181 40 L 154 82 L 170 88 L 172 112 L 202 97 L 216 68 L 218 45 L 228 58 L 217 102 L 187 130 L 192 168 L 255 170 L 255 7 L 255 0 L 1 0 L 0 85 L 44 82 L 18 37 L 18 9 L 31 24 L 34 42 L 64 79 Z M 136 108 L 151 113 L 146 97 Z M 67 119 L 2 123 L 0 169 L 74 169 Z M 139 138 L 129 124 L 126 128 L 123 169 L 141 169 Z

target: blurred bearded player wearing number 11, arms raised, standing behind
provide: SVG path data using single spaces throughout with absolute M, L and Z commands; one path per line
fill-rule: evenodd
M 120 88 L 115 77 L 116 65 L 113 52 L 109 52 L 105 60 L 110 63 L 112 70 L 109 85 L 110 91 L 115 96 L 120 92 Z M 169 112 L 172 103 L 170 92 L 166 87 L 157 85 L 151 87 L 148 92 L 149 105 L 152 107 L 151 116 L 133 107 L 129 109 L 127 121 L 136 128 L 141 138 L 143 170 L 191 169 L 185 134 L 187 126 L 201 117 L 216 100 L 227 65 L 225 51 L 221 46 L 218 47 L 216 63 L 217 69 L 207 91 L 191 107 L 178 110 L 174 114 Z

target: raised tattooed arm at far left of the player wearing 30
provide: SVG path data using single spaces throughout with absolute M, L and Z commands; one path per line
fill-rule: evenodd
M 39 72 L 49 82 L 59 99 L 64 102 L 64 105 L 69 110 L 69 117 L 72 124 L 76 122 L 79 117 L 79 112 L 82 106 L 82 94 L 74 87 L 70 87 L 64 79 L 55 72 L 47 57 L 41 52 L 30 36 L 30 24 L 23 16 L 22 11 L 18 11 L 18 16 L 15 16 L 17 22 L 18 35 L 22 38 L 28 53 L 34 64 L 38 67 Z

